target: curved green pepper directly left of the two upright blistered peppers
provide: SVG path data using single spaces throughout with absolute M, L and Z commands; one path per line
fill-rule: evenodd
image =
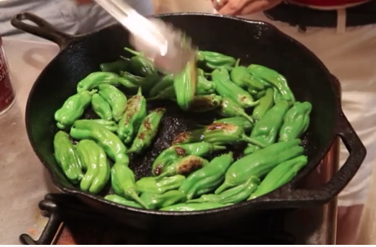
M 108 84 L 99 85 L 98 93 L 110 105 L 113 119 L 118 122 L 127 104 L 127 97 L 118 88 Z

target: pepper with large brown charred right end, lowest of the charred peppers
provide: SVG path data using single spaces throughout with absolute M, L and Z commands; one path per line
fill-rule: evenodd
M 185 156 L 183 158 L 177 159 L 176 161 L 173 161 L 171 165 L 167 166 L 167 168 L 164 169 L 164 172 L 156 178 L 156 181 L 159 181 L 161 180 L 161 178 L 168 176 L 174 176 L 176 174 L 186 176 L 190 173 L 193 173 L 193 171 L 197 171 L 198 169 L 203 168 L 207 165 L 207 163 L 208 162 L 206 159 L 203 159 L 199 156 Z

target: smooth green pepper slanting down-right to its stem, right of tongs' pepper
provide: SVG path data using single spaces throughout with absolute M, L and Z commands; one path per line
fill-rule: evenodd
M 251 94 L 230 80 L 229 71 L 226 69 L 212 71 L 212 81 L 215 82 L 215 90 L 220 96 L 230 98 L 242 108 L 258 105 L 258 101 L 254 101 Z

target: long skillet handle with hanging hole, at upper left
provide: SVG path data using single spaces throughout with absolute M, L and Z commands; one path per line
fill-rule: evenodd
M 35 25 L 25 23 L 25 21 L 31 21 Z M 29 12 L 16 14 L 16 16 L 13 16 L 11 24 L 26 33 L 55 42 L 61 50 L 67 47 L 74 39 L 73 35 L 57 30 L 51 23 Z

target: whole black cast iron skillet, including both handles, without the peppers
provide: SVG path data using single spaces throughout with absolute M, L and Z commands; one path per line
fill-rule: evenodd
M 56 42 L 61 49 L 35 81 L 28 98 L 25 120 L 35 153 L 62 192 L 75 195 L 87 205 L 98 209 L 98 212 L 138 228 L 153 231 L 200 231 L 228 225 L 257 209 L 324 204 L 343 190 L 358 171 L 366 151 L 343 115 L 340 93 L 331 74 L 312 52 L 267 23 L 207 13 L 171 13 L 157 17 L 186 30 L 201 50 L 240 57 L 246 65 L 263 64 L 285 75 L 297 100 L 308 100 L 313 105 L 311 123 L 307 134 L 302 138 L 309 164 L 294 180 L 268 195 L 231 207 L 201 212 L 135 209 L 107 202 L 103 200 L 103 195 L 81 192 L 64 178 L 52 155 L 52 139 L 57 132 L 53 115 L 64 100 L 76 92 L 76 84 L 81 79 L 98 71 L 99 64 L 118 59 L 120 54 L 129 56 L 123 50 L 123 47 L 129 45 L 128 33 L 120 25 L 111 25 L 88 35 L 71 36 L 59 32 L 38 16 L 20 13 L 11 21 L 13 26 Z M 25 20 L 32 21 L 38 27 L 25 23 Z M 161 105 L 167 108 L 167 115 L 154 147 L 142 157 L 132 157 L 131 168 L 137 178 L 150 174 L 150 165 L 155 156 L 169 146 L 175 134 L 210 120 L 208 115 L 181 113 L 172 103 L 149 103 L 148 108 Z M 89 115 L 90 113 L 86 113 L 86 117 Z M 302 180 L 319 164 L 338 136 L 350 152 L 343 168 L 322 188 L 297 189 L 297 181 Z

